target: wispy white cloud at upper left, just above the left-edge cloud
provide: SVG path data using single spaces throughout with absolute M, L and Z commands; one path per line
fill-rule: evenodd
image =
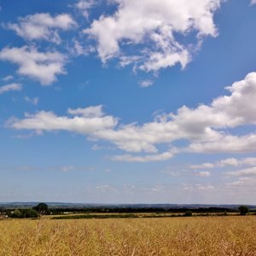
M 55 44 L 61 43 L 58 30 L 67 31 L 77 26 L 70 15 L 36 14 L 20 17 L 19 23 L 9 23 L 6 27 L 26 40 L 47 40 Z

